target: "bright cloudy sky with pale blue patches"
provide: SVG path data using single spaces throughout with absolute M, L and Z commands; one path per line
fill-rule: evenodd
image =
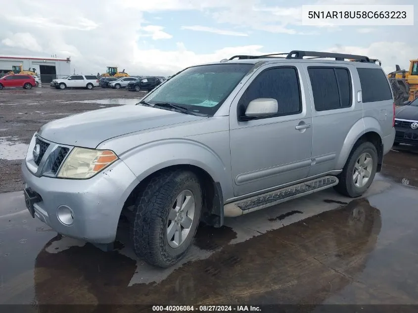
M 172 75 L 229 58 L 318 50 L 365 54 L 386 72 L 418 58 L 415 26 L 301 26 L 302 4 L 364 4 L 363 0 L 13 0 L 0 10 L 0 55 L 71 57 L 76 73 L 118 66 L 131 75 Z M 70 73 L 68 73 L 70 74 Z

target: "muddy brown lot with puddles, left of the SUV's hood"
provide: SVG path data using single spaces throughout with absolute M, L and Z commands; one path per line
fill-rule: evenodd
M 144 92 L 95 88 L 0 90 L 0 193 L 23 189 L 21 159 L 33 134 L 45 123 L 71 114 L 135 104 Z

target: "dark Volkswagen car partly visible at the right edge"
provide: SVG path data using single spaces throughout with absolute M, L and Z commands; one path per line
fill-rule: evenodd
M 418 98 L 395 110 L 395 142 L 418 145 Z

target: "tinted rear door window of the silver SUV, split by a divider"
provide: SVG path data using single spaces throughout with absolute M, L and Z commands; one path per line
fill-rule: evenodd
M 308 67 L 316 111 L 350 107 L 351 75 L 343 67 Z

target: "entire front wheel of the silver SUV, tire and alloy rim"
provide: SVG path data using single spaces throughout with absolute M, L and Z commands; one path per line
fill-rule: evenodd
M 187 253 L 202 210 L 202 189 L 188 171 L 158 174 L 135 203 L 131 222 L 134 251 L 148 264 L 168 268 Z

